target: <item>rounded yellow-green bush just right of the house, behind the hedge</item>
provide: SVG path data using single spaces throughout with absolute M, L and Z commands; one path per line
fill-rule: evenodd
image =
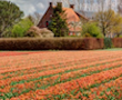
M 103 38 L 100 28 L 96 26 L 96 23 L 93 23 L 93 22 L 88 22 L 88 23 L 83 24 L 82 36 L 83 37 Z

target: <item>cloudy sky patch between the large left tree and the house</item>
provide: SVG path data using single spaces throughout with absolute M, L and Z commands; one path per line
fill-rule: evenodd
M 31 14 L 33 12 L 39 12 L 43 14 L 49 6 L 50 0 L 9 0 L 14 2 L 24 14 Z

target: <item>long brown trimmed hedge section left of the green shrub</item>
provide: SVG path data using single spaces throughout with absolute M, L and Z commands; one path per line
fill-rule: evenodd
M 95 38 L 0 39 L 0 50 L 94 50 L 103 49 L 103 41 Z

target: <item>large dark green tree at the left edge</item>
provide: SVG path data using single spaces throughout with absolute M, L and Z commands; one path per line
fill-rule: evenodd
M 0 37 L 3 31 L 17 23 L 22 16 L 23 12 L 14 3 L 0 1 Z

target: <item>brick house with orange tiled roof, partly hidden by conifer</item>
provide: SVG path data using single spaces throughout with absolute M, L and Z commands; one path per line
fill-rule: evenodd
M 62 7 L 62 2 L 58 2 Z M 39 28 L 48 28 L 48 26 L 51 22 L 51 18 L 53 14 L 53 4 L 50 2 L 48 10 L 45 11 L 44 16 L 40 20 L 38 27 Z M 88 18 L 82 16 L 81 13 L 74 11 L 74 4 L 70 4 L 70 8 L 63 8 L 67 14 L 67 23 L 69 27 L 69 36 L 80 36 L 80 32 L 82 30 L 81 24 L 82 21 L 89 21 Z

